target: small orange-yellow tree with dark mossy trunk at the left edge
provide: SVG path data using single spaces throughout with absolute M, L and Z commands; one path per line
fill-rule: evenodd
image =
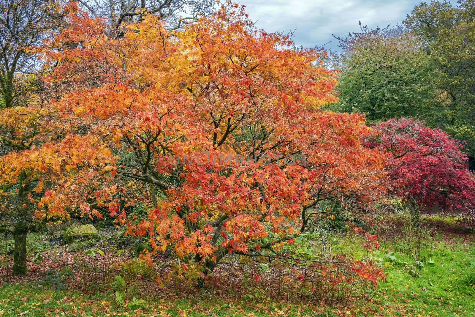
M 0 157 L 0 229 L 15 240 L 14 275 L 27 273 L 28 231 L 70 213 L 101 217 L 89 202 L 115 190 L 104 183 L 114 173 L 109 149 L 54 118 L 53 109 L 32 105 L 0 111 L 1 144 L 10 149 Z

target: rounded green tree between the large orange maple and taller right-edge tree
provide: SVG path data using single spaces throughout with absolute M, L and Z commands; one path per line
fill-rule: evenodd
M 422 117 L 435 99 L 434 74 L 418 37 L 402 26 L 360 27 L 360 33 L 335 37 L 343 52 L 333 55 L 342 71 L 333 110 L 364 113 L 370 122 Z

